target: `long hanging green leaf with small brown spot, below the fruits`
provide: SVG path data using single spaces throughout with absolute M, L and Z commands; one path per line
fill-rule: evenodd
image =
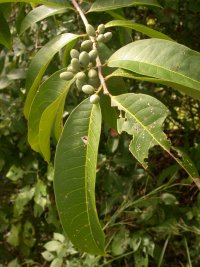
M 99 104 L 83 101 L 65 123 L 55 156 L 54 189 L 62 226 L 79 249 L 104 254 L 95 207 L 96 162 L 101 130 Z

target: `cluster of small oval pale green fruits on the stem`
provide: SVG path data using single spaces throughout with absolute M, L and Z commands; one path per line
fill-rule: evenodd
M 90 102 L 96 104 L 99 102 L 99 96 L 95 93 L 95 88 L 100 86 L 98 72 L 96 70 L 96 58 L 98 51 L 96 43 L 108 42 L 112 38 L 111 32 L 105 32 L 104 24 L 100 24 L 95 31 L 90 24 L 86 26 L 86 33 L 90 39 L 84 40 L 81 43 L 81 51 L 72 49 L 70 51 L 71 63 L 60 74 L 60 78 L 69 81 L 76 78 L 76 87 L 79 91 L 91 95 Z

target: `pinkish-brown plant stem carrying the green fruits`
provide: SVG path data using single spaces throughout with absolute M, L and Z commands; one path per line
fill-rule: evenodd
M 79 4 L 77 3 L 76 0 L 72 0 L 72 4 L 75 7 L 75 9 L 77 10 L 77 12 L 79 13 L 79 15 L 80 15 L 85 27 L 86 27 L 89 23 L 88 23 L 88 20 L 87 20 L 85 14 L 83 13 L 82 9 L 80 8 Z M 93 42 L 93 48 L 97 48 L 95 38 L 90 36 L 90 40 Z M 107 88 L 107 85 L 106 85 L 106 82 L 105 82 L 105 79 L 104 79 L 104 76 L 103 76 L 103 73 L 102 73 L 102 64 L 101 64 L 101 60 L 100 60 L 99 55 L 97 55 L 97 58 L 96 58 L 96 66 L 97 66 L 97 70 L 98 70 L 99 80 L 100 80 L 102 88 L 103 88 L 103 93 L 105 95 L 110 95 L 108 88 Z

